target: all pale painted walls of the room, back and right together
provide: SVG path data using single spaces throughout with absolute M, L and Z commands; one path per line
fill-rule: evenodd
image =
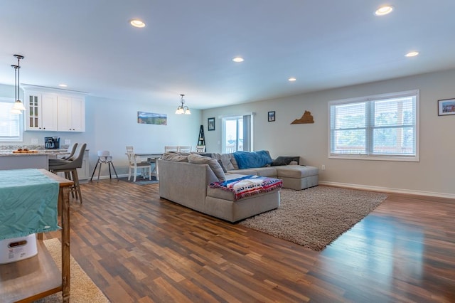
M 255 112 L 254 149 L 269 150 L 271 156 L 299 155 L 302 164 L 319 167 L 320 184 L 343 185 L 378 191 L 414 193 L 454 198 L 451 161 L 454 142 L 448 140 L 455 125 L 451 117 L 438 116 L 437 102 L 454 95 L 455 70 L 384 80 L 377 83 L 341 87 L 321 92 L 251 102 L 208 110 L 192 110 L 192 115 L 175 115 L 176 106 L 154 106 L 154 111 L 168 115 L 167 125 L 138 124 L 137 111 L 149 110 L 147 102 L 130 102 L 102 97 L 86 97 L 86 131 L 82 133 L 23 132 L 24 145 L 45 136 L 58 136 L 71 142 L 87 142 L 90 171 L 97 161 L 96 151 L 111 151 L 120 175 L 127 174 L 125 147 L 137 151 L 164 151 L 167 145 L 190 145 L 196 148 L 200 125 L 204 125 L 206 149 L 222 152 L 223 132 L 220 117 Z M 330 159 L 328 157 L 328 102 L 385 92 L 419 90 L 420 161 L 368 161 Z M 11 85 L 0 85 L 5 97 L 14 94 Z M 14 96 L 12 96 L 14 97 Z M 177 98 L 178 101 L 178 98 Z M 189 101 L 188 101 L 189 103 Z M 308 110 L 314 124 L 291 124 Z M 268 122 L 267 112 L 275 111 L 276 120 Z M 112 119 L 122 117 L 122 119 Z M 207 119 L 215 117 L 215 130 L 208 131 Z M 267 135 L 265 135 L 267 134 Z M 115 139 L 112 139 L 114 137 Z M 437 147 L 437 148 L 435 148 Z M 326 169 L 321 170 L 325 165 Z M 109 175 L 107 168 L 102 176 Z

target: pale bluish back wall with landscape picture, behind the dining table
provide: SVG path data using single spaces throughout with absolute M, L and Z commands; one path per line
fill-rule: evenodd
M 12 94 L 12 95 L 11 95 Z M 14 98 L 14 86 L 0 84 L 1 97 Z M 133 101 L 132 101 L 133 100 Z M 200 110 L 191 109 L 191 115 L 176 115 L 176 102 L 170 106 L 149 105 L 148 100 L 111 100 L 102 97 L 85 97 L 85 132 L 23 132 L 23 142 L 0 142 L 0 145 L 33 145 L 32 139 L 44 144 L 44 137 L 60 137 L 73 142 L 86 142 L 90 149 L 90 174 L 97 161 L 98 150 L 109 150 L 118 174 L 127 174 L 126 146 L 137 152 L 162 152 L 165 145 L 191 145 L 196 149 L 200 127 Z M 167 125 L 139 124 L 137 112 L 166 114 Z M 102 176 L 109 175 L 103 166 Z

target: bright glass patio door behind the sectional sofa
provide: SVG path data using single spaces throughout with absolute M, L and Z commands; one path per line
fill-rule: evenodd
M 223 153 L 252 151 L 252 115 L 223 118 Z

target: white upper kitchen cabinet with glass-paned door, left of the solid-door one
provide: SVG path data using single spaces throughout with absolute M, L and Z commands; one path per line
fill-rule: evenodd
M 58 96 L 43 92 L 26 92 L 26 130 L 56 131 Z

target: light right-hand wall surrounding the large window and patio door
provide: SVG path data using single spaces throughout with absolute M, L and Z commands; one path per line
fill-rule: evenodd
M 329 101 L 415 89 L 420 91 L 419 162 L 328 159 Z M 207 118 L 216 117 L 215 131 L 205 132 L 205 143 L 208 151 L 220 152 L 222 128 L 218 117 L 256 112 L 255 150 L 267 149 L 272 157 L 298 155 L 304 164 L 319 169 L 324 164 L 321 184 L 455 198 L 455 115 L 437 115 L 437 100 L 447 98 L 455 98 L 455 70 L 220 107 L 203 111 L 205 129 Z M 305 110 L 313 115 L 314 124 L 290 124 Z M 269 111 L 276 112 L 275 122 L 267 121 Z

